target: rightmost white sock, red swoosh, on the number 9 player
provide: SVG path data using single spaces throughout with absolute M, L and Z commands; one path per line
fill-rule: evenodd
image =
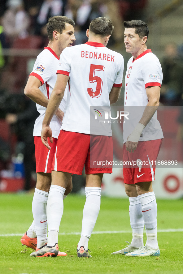
M 154 192 L 144 193 L 138 196 L 142 205 L 142 215 L 146 229 L 146 244 L 158 249 L 157 240 L 157 203 Z

